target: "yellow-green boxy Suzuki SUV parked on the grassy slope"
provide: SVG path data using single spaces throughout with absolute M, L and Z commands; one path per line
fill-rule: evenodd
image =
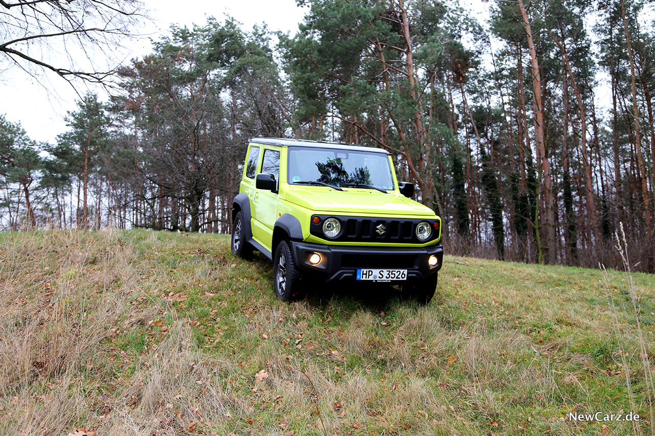
M 232 251 L 273 261 L 275 294 L 303 294 L 303 278 L 390 282 L 421 302 L 443 259 L 441 218 L 408 197 L 390 153 L 299 139 L 250 138 L 234 198 Z

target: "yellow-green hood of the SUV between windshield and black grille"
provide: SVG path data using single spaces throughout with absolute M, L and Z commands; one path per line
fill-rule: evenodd
M 297 187 L 287 189 L 284 198 L 304 208 L 341 215 L 358 213 L 425 216 L 434 215 L 432 209 L 394 192 L 373 189 L 344 188 L 337 191 L 328 187 Z

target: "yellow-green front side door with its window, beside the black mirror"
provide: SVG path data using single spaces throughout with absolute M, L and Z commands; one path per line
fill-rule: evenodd
M 280 186 L 280 147 L 265 147 L 259 173 L 272 174 L 277 182 L 274 191 L 255 189 L 257 195 L 257 218 L 253 227 L 253 236 L 259 244 L 271 250 L 273 227 L 277 221 L 278 188 Z

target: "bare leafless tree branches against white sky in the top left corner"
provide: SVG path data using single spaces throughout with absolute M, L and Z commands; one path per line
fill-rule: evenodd
M 34 75 L 52 71 L 67 81 L 102 83 L 116 67 L 98 51 L 121 46 L 144 17 L 141 0 L 0 0 L 0 63 Z

